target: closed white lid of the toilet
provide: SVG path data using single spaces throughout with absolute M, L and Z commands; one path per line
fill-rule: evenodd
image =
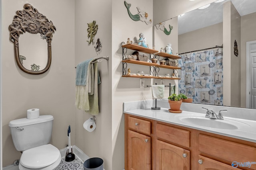
M 49 166 L 58 160 L 60 151 L 51 144 L 23 151 L 20 164 L 26 168 L 37 169 Z

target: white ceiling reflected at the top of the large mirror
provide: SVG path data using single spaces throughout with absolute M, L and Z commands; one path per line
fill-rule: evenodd
M 178 17 L 178 34 L 194 31 L 222 22 L 222 4 L 213 2 L 208 8 L 196 9 Z M 256 0 L 231 0 L 240 16 L 256 12 Z

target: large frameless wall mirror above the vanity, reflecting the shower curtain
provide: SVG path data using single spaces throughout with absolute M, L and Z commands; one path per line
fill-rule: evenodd
M 179 85 L 181 81 L 187 82 L 184 93 L 194 99 L 196 95 L 200 96 L 202 104 L 256 109 L 256 69 L 253 65 L 256 62 L 255 0 L 218 0 L 208 7 L 194 9 L 162 23 L 174 25 L 173 32 L 165 35 L 160 29 L 154 28 L 154 43 L 163 47 L 172 43 L 174 54 L 179 53 L 183 57 L 180 66 L 184 66 L 185 74 L 188 69 L 191 70 L 189 76 L 183 76 L 178 82 Z M 191 62 L 185 63 L 186 60 Z M 196 65 L 200 60 L 208 63 Z M 220 65 L 221 72 L 218 70 Z M 217 71 L 207 75 L 214 66 Z M 181 72 L 182 69 L 179 76 Z M 196 81 L 196 72 L 204 74 L 202 80 Z M 194 78 L 195 81 L 189 82 L 186 78 Z M 214 82 L 222 82 L 222 85 L 218 87 L 218 83 Z M 192 87 L 199 89 L 198 94 L 193 92 Z M 208 89 L 207 92 L 200 91 L 203 87 Z M 184 86 L 180 89 L 184 89 Z M 216 100 L 207 102 L 212 94 L 217 94 Z

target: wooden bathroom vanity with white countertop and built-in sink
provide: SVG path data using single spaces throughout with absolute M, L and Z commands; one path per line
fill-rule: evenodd
M 164 102 L 158 103 L 166 106 Z M 224 120 L 214 120 L 205 118 L 204 110 L 177 114 L 168 107 L 151 110 L 148 106 L 147 102 L 124 103 L 126 170 L 256 169 L 255 120 L 225 113 Z M 248 168 L 251 162 L 255 164 Z

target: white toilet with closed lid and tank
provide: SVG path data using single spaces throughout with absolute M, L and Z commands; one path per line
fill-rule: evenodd
M 22 151 L 20 170 L 53 170 L 60 164 L 60 150 L 49 144 L 53 119 L 52 115 L 40 115 L 9 122 L 14 146 Z

